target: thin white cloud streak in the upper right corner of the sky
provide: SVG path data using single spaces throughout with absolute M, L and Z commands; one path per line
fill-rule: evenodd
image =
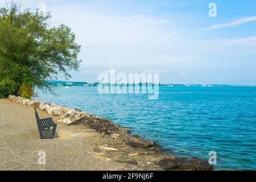
M 210 26 L 208 28 L 204 28 L 204 30 L 220 29 L 220 28 L 225 28 L 225 27 L 234 27 L 234 26 L 238 26 L 240 24 L 254 22 L 254 21 L 256 21 L 256 15 L 254 15 L 254 16 L 246 16 L 246 17 L 241 17 L 241 18 L 233 19 L 233 21 L 229 22 L 229 23 L 214 24 L 214 25 L 212 25 L 212 26 Z

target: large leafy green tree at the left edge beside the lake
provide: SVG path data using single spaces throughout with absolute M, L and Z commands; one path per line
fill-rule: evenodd
M 35 87 L 52 92 L 49 80 L 78 71 L 81 46 L 75 34 L 64 24 L 50 27 L 49 19 L 49 13 L 14 3 L 0 9 L 0 97 L 30 98 Z

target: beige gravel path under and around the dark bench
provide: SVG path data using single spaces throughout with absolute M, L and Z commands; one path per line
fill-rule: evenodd
M 52 117 L 38 110 L 40 118 Z M 57 118 L 53 118 L 56 122 Z M 119 170 L 127 164 L 93 156 L 102 134 L 85 126 L 57 123 L 57 137 L 41 140 L 33 107 L 0 99 L 0 170 Z M 39 151 L 46 164 L 39 164 Z

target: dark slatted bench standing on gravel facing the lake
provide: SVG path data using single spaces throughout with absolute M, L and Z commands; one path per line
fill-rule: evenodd
M 36 111 L 36 107 L 34 107 L 34 109 L 35 109 L 36 122 L 38 123 L 40 138 L 41 139 L 54 138 L 57 124 L 52 120 L 52 118 L 40 119 L 38 115 L 38 111 Z M 53 127 L 53 130 L 52 130 L 52 133 L 49 134 L 49 129 L 51 127 Z

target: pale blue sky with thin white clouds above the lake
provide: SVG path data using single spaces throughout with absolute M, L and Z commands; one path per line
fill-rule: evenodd
M 52 11 L 82 49 L 72 81 L 97 81 L 101 72 L 159 72 L 160 82 L 256 85 L 256 2 L 16 1 Z M 216 3 L 217 17 L 208 15 Z M 5 1 L 0 0 L 0 5 Z

